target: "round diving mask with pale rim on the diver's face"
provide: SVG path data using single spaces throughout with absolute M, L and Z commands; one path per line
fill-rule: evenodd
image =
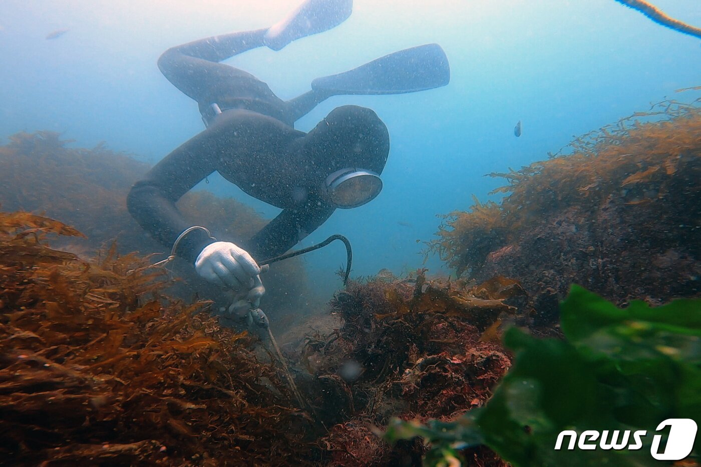
M 336 207 L 350 209 L 372 201 L 382 190 L 380 176 L 372 170 L 348 167 L 326 177 L 326 193 Z

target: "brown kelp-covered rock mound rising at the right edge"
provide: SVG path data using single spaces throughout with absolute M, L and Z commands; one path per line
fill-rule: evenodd
M 700 295 L 700 103 L 660 102 L 491 174 L 508 181 L 501 203 L 449 214 L 431 249 L 458 274 L 514 277 L 540 297 L 572 282 L 618 302 Z

